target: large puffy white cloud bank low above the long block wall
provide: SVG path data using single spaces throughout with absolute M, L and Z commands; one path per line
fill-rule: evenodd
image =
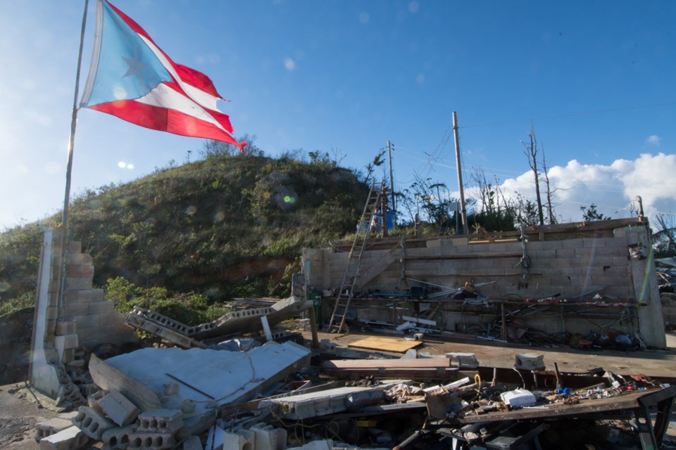
M 554 210 L 561 221 L 580 221 L 580 207 L 594 203 L 599 212 L 613 219 L 636 217 L 638 205 L 634 199 L 639 195 L 649 219 L 661 212 L 676 213 L 675 173 L 676 155 L 664 153 L 645 153 L 636 160 L 615 160 L 611 165 L 571 160 L 565 166 L 549 169 L 550 185 L 556 189 Z M 501 189 L 508 198 L 520 193 L 524 198 L 535 199 L 532 172 L 506 179 Z M 540 181 L 543 200 L 545 192 L 544 181 Z

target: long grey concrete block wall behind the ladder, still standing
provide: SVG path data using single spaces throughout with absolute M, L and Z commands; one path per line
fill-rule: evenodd
M 525 242 L 519 232 L 370 240 L 357 281 L 361 299 L 353 300 L 350 314 L 396 322 L 404 314 L 432 308 L 439 311 L 434 320 L 440 328 L 463 331 L 492 314 L 495 304 L 501 304 L 503 316 L 525 303 L 539 304 L 549 311 L 533 314 L 531 327 L 582 334 L 612 327 L 640 333 L 650 347 L 665 347 L 649 233 L 645 221 L 615 219 L 529 227 Z M 308 286 L 337 292 L 349 250 L 349 245 L 304 250 Z M 406 295 L 413 286 L 434 292 L 465 283 L 480 285 L 492 309 Z M 382 298 L 390 300 L 377 300 Z

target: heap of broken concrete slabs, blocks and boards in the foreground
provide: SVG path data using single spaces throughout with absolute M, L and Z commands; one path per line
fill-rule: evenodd
M 151 311 L 144 317 L 161 321 Z M 163 327 L 158 333 L 177 328 Z M 642 374 L 546 371 L 534 353 L 516 354 L 514 368 L 491 368 L 474 354 L 423 356 L 411 348 L 423 342 L 401 338 L 370 336 L 352 348 L 196 342 L 89 356 L 82 369 L 96 390 L 67 420 L 37 425 L 40 448 L 552 448 L 571 426 L 587 444 L 656 448 L 676 397 L 676 387 Z

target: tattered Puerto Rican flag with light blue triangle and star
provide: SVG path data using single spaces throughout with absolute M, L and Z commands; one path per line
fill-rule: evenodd
M 231 143 L 230 117 L 206 75 L 174 63 L 139 27 L 107 0 L 96 2 L 96 32 L 82 108 L 141 127 Z

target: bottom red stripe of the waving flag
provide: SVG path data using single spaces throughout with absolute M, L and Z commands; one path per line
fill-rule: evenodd
M 230 134 L 227 134 L 214 124 L 184 115 L 175 110 L 146 105 L 145 103 L 133 100 L 102 103 L 90 108 L 114 115 L 141 127 L 167 131 L 173 134 L 180 134 L 181 136 L 199 136 L 205 139 L 214 139 L 215 141 L 232 143 L 234 146 L 239 147 L 240 150 L 242 149 L 243 143 L 237 142 Z

